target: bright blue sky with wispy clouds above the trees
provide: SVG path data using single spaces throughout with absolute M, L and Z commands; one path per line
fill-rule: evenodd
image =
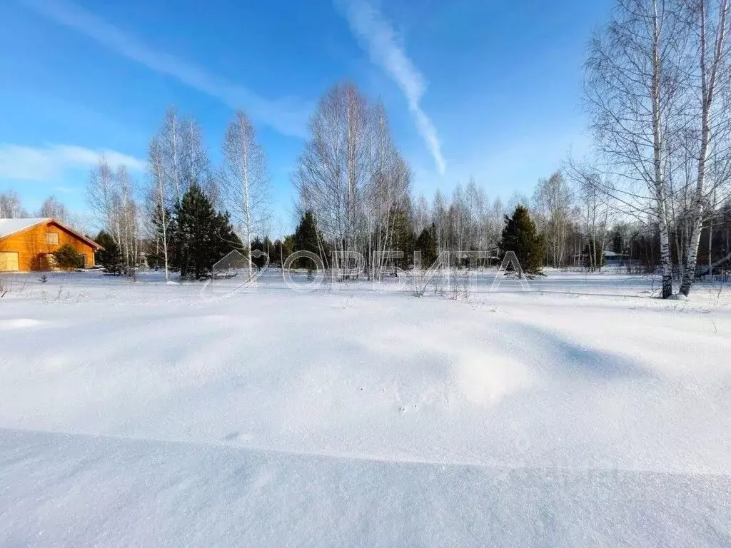
M 493 198 L 530 194 L 586 149 L 581 64 L 611 0 L 6 0 L 0 3 L 0 191 L 83 215 L 100 151 L 145 176 L 175 104 L 213 161 L 235 107 L 257 124 L 292 227 L 295 166 L 314 102 L 355 81 L 387 108 L 431 199 L 470 175 Z

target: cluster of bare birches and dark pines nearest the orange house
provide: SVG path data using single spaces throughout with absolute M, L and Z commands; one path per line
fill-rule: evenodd
M 102 265 L 135 275 L 143 263 L 183 278 L 205 278 L 232 249 L 251 255 L 268 229 L 269 179 L 254 126 L 235 113 L 214 166 L 199 124 L 171 107 L 148 146 L 148 172 L 132 182 L 124 165 L 102 156 L 92 170 L 87 201 Z M 144 259 L 143 259 L 144 258 Z

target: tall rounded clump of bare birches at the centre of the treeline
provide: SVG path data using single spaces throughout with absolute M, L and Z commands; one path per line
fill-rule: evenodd
M 300 210 L 315 214 L 330 242 L 333 278 L 349 277 L 352 258 L 363 256 L 360 266 L 379 279 L 393 247 L 406 241 L 406 230 L 410 235 L 413 213 L 412 172 L 393 143 L 385 108 L 352 83 L 339 83 L 319 100 L 309 134 L 293 177 Z

